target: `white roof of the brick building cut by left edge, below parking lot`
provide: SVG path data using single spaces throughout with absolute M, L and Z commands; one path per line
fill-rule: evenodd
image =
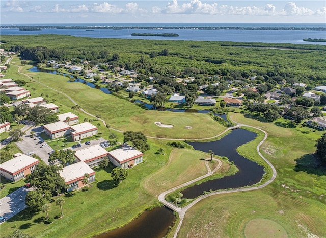
M 14 174 L 15 172 L 22 170 L 35 162 L 40 161 L 31 156 L 21 154 L 20 156 L 17 156 L 11 160 L 8 160 L 7 162 L 0 164 L 0 169 L 6 170 Z

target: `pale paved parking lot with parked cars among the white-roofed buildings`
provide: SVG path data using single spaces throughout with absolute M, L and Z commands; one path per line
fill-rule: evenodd
M 50 146 L 48 146 L 45 142 L 41 144 L 37 144 L 39 139 L 35 139 L 30 137 L 31 131 L 34 131 L 36 134 L 41 133 L 43 131 L 41 126 L 33 126 L 31 129 L 26 131 L 26 135 L 23 136 L 23 140 L 16 142 L 16 145 L 19 149 L 24 153 L 34 152 L 37 156 L 39 156 L 46 164 L 49 164 L 49 152 L 52 150 Z M 41 147 L 42 144 L 46 144 L 45 147 Z

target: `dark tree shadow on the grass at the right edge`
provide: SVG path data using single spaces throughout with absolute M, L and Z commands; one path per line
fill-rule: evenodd
M 326 175 L 326 168 L 321 166 L 318 160 L 311 154 L 305 154 L 294 161 L 296 162 L 296 165 L 293 170 L 296 172 L 303 171 L 317 176 Z

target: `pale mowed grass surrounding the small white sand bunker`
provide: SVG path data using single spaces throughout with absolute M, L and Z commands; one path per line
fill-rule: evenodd
M 173 127 L 159 127 L 154 122 L 173 125 Z M 188 129 L 187 126 L 192 128 Z M 206 114 L 153 110 L 130 117 L 129 123 L 119 128 L 124 131 L 132 128 L 135 131 L 143 131 L 149 136 L 176 139 L 208 138 L 226 129 Z

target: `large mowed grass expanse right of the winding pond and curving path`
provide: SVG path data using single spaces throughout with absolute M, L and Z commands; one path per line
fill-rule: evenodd
M 247 223 L 258 218 L 278 223 L 288 237 L 325 237 L 326 173 L 310 155 L 322 132 L 301 125 L 292 128 L 289 120 L 264 123 L 241 113 L 231 117 L 268 132 L 260 151 L 275 166 L 277 177 L 257 191 L 202 200 L 187 211 L 178 237 L 243 237 Z M 258 160 L 251 156 L 257 154 L 254 146 L 244 145 L 238 151 Z

